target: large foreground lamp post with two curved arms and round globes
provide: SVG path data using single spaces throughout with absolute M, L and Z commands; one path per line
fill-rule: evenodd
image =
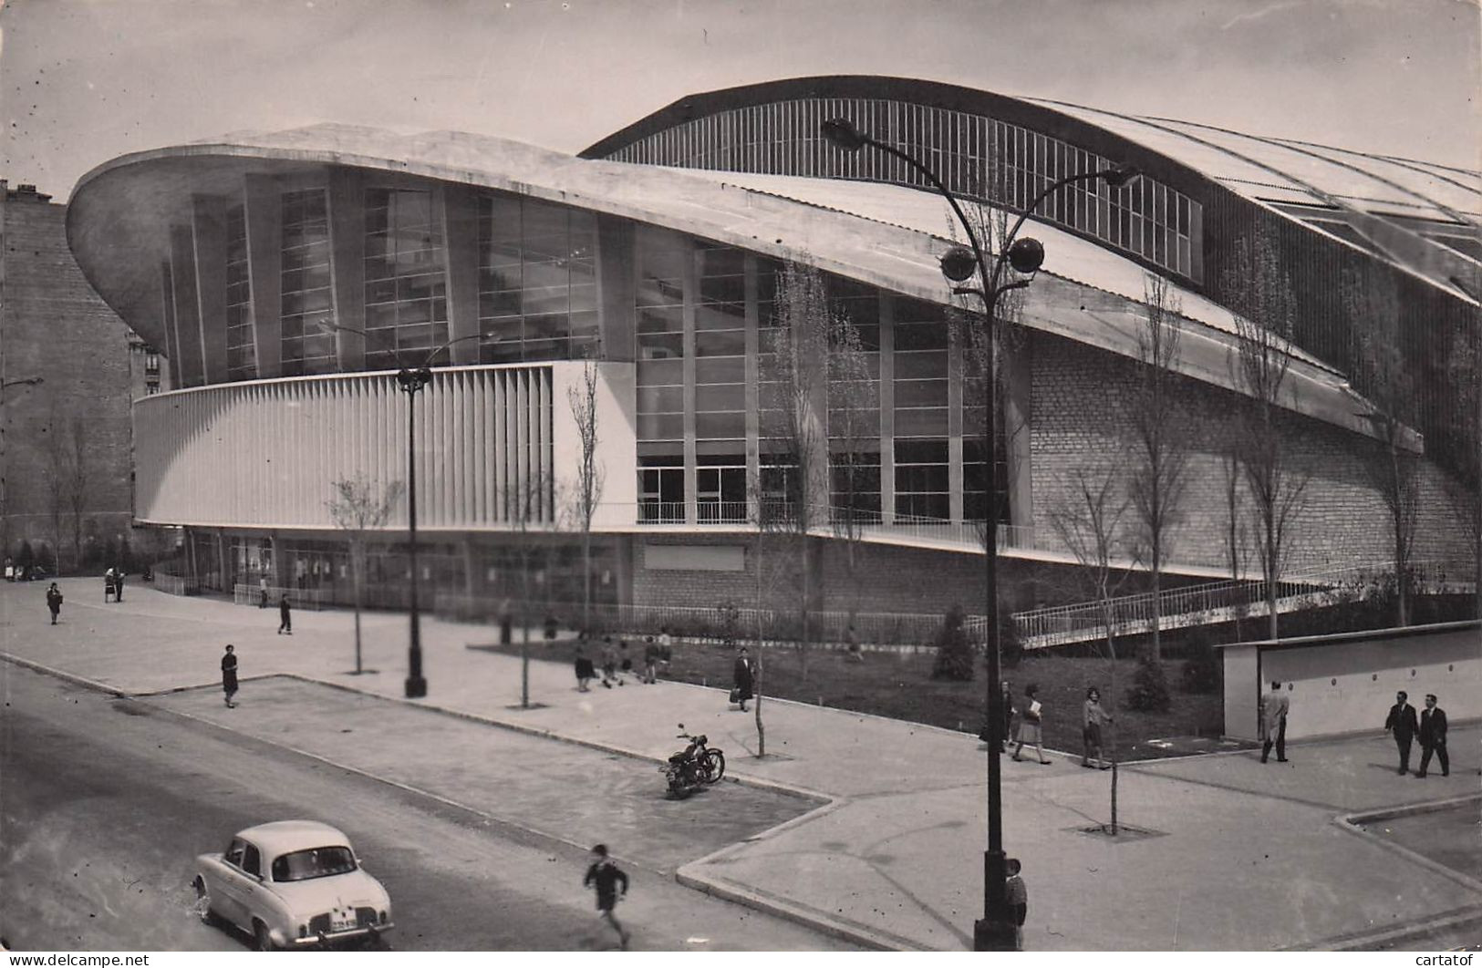
M 968 235 L 968 246 L 971 246 L 971 249 L 957 246 L 941 258 L 943 275 L 953 283 L 966 283 L 974 275 L 978 277 L 978 286 L 954 286 L 951 290 L 956 295 L 971 293 L 983 300 L 984 326 L 988 330 L 988 363 L 986 367 L 987 373 L 984 374 L 987 392 L 987 406 L 984 409 L 987 413 L 984 437 L 987 440 L 987 446 L 984 447 L 983 457 L 986 465 L 984 477 L 988 485 L 990 508 L 987 527 L 984 528 L 984 551 L 987 555 L 987 642 L 984 651 L 987 653 L 986 657 L 988 666 L 987 719 L 991 730 L 988 734 L 988 850 L 983 854 L 983 919 L 974 924 L 972 947 L 980 952 L 1014 950 L 1014 913 L 1008 910 L 1008 901 L 1005 897 L 1006 864 L 1003 854 L 1003 798 L 999 761 L 1005 737 L 999 736 L 999 730 L 1003 728 L 1003 710 L 1002 690 L 999 685 L 999 481 L 997 465 L 994 462 L 994 453 L 997 450 L 994 443 L 997 440 L 997 340 L 993 337 L 993 324 L 997 315 L 999 299 L 1003 298 L 1003 293 L 1014 289 L 1023 289 L 1030 283 L 1029 278 L 1005 281 L 1003 266 L 1009 265 L 1015 272 L 1031 275 L 1045 261 L 1045 246 L 1034 238 L 1018 238 L 1018 232 L 1024 226 L 1024 222 L 1030 215 L 1033 215 L 1040 203 L 1066 185 L 1073 185 L 1076 182 L 1103 181 L 1112 188 L 1122 188 L 1137 178 L 1137 170 L 1129 166 L 1119 164 L 1100 172 L 1069 175 L 1051 182 L 1037 195 L 1034 195 L 1033 201 L 1030 201 L 1029 206 L 1020 213 L 1018 221 L 1014 222 L 1014 226 L 1003 237 L 999 252 L 993 258 L 990 266 L 988 258 L 983 249 L 983 241 L 978 240 L 977 231 L 963 213 L 957 198 L 953 197 L 946 185 L 941 184 L 941 179 L 937 178 L 935 172 L 900 148 L 876 141 L 874 138 L 860 132 L 845 118 L 824 121 L 823 136 L 828 141 L 828 144 L 848 152 L 857 152 L 865 145 L 877 151 L 883 151 L 891 157 L 900 158 L 908 164 L 911 170 L 925 178 L 932 188 L 935 188 L 937 192 L 947 200 L 947 204 L 951 206 L 953 215 L 956 215 L 957 221 L 962 223 L 962 231 Z

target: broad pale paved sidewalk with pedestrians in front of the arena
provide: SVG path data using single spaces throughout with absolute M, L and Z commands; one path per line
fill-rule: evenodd
M 252 678 L 274 673 L 400 702 L 405 616 L 365 617 L 365 665 L 379 672 L 354 676 L 348 613 L 295 613 L 295 635 L 280 636 L 271 608 L 138 585 L 124 602 L 104 605 L 96 580 L 62 588 L 64 625 L 53 629 L 44 585 L 0 583 L 0 651 L 145 694 L 219 688 L 216 663 L 230 641 L 245 679 L 234 712 L 250 710 Z M 756 759 L 748 755 L 754 719 L 729 710 L 720 688 L 630 681 L 581 694 L 569 665 L 532 662 L 536 706 L 520 709 L 519 659 L 468 648 L 495 636 L 488 626 L 424 620 L 428 697 L 416 705 L 655 759 L 677 749 L 676 724 L 707 733 L 726 752 L 728 776 L 812 792 L 827 804 L 682 866 L 682 882 L 861 943 L 971 947 L 986 845 L 986 756 L 974 737 L 768 700 L 769 755 Z M 375 703 L 354 707 L 345 728 L 373 737 Z M 1082 832 L 1109 820 L 1109 773 L 1058 755 L 1049 767 L 1005 759 L 1003 839 L 1024 861 L 1030 891 L 1026 947 L 1322 946 L 1438 912 L 1482 913 L 1482 885 L 1334 823 L 1363 810 L 1478 795 L 1479 739 L 1482 727 L 1454 728 L 1451 777 L 1433 773 L 1424 782 L 1395 774 L 1383 734 L 1294 745 L 1285 765 L 1263 765 L 1251 753 L 1137 764 L 1119 771 L 1119 820 L 1147 835 L 1116 839 Z M 437 787 L 428 792 L 464 802 L 459 795 L 480 783 L 464 774 L 427 777 Z M 713 792 L 725 793 L 725 786 Z

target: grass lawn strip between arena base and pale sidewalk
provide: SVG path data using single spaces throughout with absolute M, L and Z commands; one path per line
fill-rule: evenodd
M 532 644 L 532 657 L 571 662 L 574 642 L 553 645 Z M 519 645 L 498 651 L 519 654 Z M 633 665 L 642 669 L 640 638 L 628 639 Z M 753 656 L 757 650 L 751 650 Z M 599 648 L 588 650 L 600 670 Z M 863 663 L 845 659 L 843 651 L 814 650 L 808 654 L 808 679 L 802 676 L 800 653 L 796 648 L 762 650 L 763 691 L 766 696 L 805 703 L 823 703 L 837 709 L 852 709 L 892 719 L 925 722 L 947 730 L 977 734 L 983 724 L 984 678 L 972 682 L 932 679 L 934 653 L 865 653 Z M 735 651 L 713 642 L 674 644 L 673 663 L 661 678 L 680 682 L 731 687 Z M 1174 755 L 1147 740 L 1175 736 L 1218 736 L 1223 700 L 1218 694 L 1190 696 L 1172 690 L 1172 706 L 1166 713 L 1143 713 L 1122 707 L 1122 696 L 1132 682 L 1134 660 L 1116 663 L 1116 690 L 1112 690 L 1112 663 L 1104 659 L 1073 659 L 1066 656 L 1026 656 L 1017 669 L 1003 675 L 1014 684 L 1015 707 L 1021 705 L 1024 687 L 1039 685 L 1043 705 L 1046 749 L 1080 752 L 1080 706 L 1086 688 L 1101 690 L 1101 705 L 1114 716 L 1119 758 L 1154 759 Z M 1165 663 L 1169 682 L 1178 679 L 1178 662 Z M 1030 753 L 1033 755 L 1033 753 Z

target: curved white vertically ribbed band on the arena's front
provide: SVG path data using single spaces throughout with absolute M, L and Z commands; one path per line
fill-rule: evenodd
M 539 524 L 565 518 L 581 447 L 566 388 L 584 364 L 440 367 L 416 400 L 416 512 L 424 528 L 504 530 L 547 481 Z M 599 366 L 602 500 L 633 522 L 633 364 Z M 253 380 L 133 404 L 135 517 L 157 524 L 330 528 L 336 480 L 406 480 L 406 395 L 393 373 Z M 550 493 L 554 491 L 554 502 Z M 600 522 L 599 522 L 600 524 Z M 406 527 L 402 500 L 387 524 Z

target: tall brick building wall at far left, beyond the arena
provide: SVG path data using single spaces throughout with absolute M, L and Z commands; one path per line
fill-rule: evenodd
M 22 540 L 55 548 L 52 456 L 71 459 L 74 431 L 82 434 L 87 481 L 84 543 L 141 543 L 130 528 L 129 330 L 73 261 L 64 215 L 65 207 L 44 195 L 12 189 L 0 201 L 0 374 L 43 379 L 7 388 L 0 407 L 0 543 L 12 555 Z M 73 517 L 68 506 L 64 565 L 74 557 Z

